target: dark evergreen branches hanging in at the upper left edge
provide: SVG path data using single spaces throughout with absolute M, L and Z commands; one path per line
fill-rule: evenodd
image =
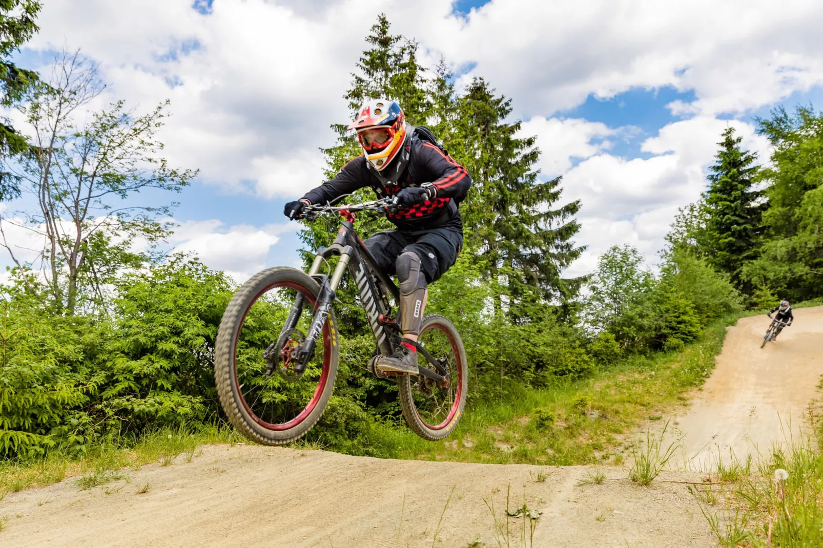
M 39 30 L 35 17 L 40 2 L 0 0 L 0 105 L 14 107 L 39 83 L 36 72 L 17 67 L 11 57 Z M 19 180 L 7 168 L 12 156 L 25 152 L 28 143 L 8 118 L 0 118 L 0 201 L 20 195 Z

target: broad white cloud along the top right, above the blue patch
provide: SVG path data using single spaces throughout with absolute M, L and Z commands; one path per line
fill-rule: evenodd
M 717 114 L 823 84 L 821 25 L 816 0 L 493 0 L 462 28 L 418 36 L 447 58 L 476 61 L 472 75 L 516 97 L 526 116 L 660 86 L 694 90 L 690 111 Z

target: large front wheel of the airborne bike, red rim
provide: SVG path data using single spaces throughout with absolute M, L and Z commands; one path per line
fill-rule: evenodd
M 309 332 L 319 290 L 305 272 L 269 268 L 244 283 L 223 314 L 215 345 L 217 393 L 231 423 L 255 442 L 280 445 L 300 438 L 317 424 L 332 396 L 339 358 L 333 315 L 305 372 L 296 375 L 290 362 L 291 351 Z M 300 321 L 280 337 L 297 295 L 305 297 Z M 267 373 L 263 358 L 269 346 L 280 358 L 274 373 Z

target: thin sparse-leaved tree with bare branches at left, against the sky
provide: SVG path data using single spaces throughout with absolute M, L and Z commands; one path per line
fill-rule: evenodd
M 25 226 L 43 237 L 35 270 L 44 273 L 55 313 L 104 307 L 103 287 L 123 268 L 151 258 L 133 251 L 133 242 L 143 240 L 151 250 L 169 234 L 169 225 L 160 221 L 169 207 L 126 201 L 149 188 L 179 192 L 196 174 L 174 170 L 160 156 L 156 131 L 167 103 L 136 115 L 119 101 L 78 121 L 102 87 L 94 65 L 64 53 L 49 86 L 24 109 L 33 141 L 21 162 L 21 180 L 38 205 L 26 211 Z M 19 223 L 16 218 L 0 218 L 3 245 L 18 267 L 33 267 L 16 258 L 2 231 L 2 222 Z

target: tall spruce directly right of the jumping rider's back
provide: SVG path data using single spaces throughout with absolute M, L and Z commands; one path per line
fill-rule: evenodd
M 565 279 L 562 270 L 584 251 L 571 240 L 579 230 L 572 217 L 580 202 L 553 207 L 562 192 L 560 177 L 538 179 L 536 137 L 514 137 L 521 123 L 504 121 L 511 100 L 475 78 L 457 108 L 451 141 L 462 147 L 453 153 L 474 182 L 461 207 L 467 248 L 481 252 L 483 269 L 504 286 L 502 300 L 516 320 L 534 313 L 530 304 L 571 299 L 584 280 Z

